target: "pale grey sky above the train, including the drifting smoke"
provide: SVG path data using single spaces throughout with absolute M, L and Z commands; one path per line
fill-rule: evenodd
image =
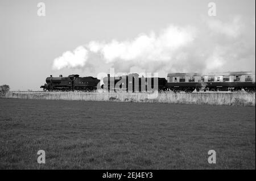
M 0 0 L 0 26 L 0 85 L 11 90 L 109 68 L 159 77 L 255 71 L 254 0 Z

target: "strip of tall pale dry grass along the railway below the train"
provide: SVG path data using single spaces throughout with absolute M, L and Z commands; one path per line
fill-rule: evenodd
M 255 106 L 255 93 L 9 92 L 6 98 Z

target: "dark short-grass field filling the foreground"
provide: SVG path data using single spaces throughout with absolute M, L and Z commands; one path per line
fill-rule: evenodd
M 2 98 L 0 146 L 0 169 L 255 169 L 255 107 Z

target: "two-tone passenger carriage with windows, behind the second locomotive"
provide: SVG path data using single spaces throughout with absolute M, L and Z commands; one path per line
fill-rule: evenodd
M 229 71 L 225 73 L 170 73 L 167 88 L 173 91 L 211 90 L 255 92 L 255 73 L 252 71 Z

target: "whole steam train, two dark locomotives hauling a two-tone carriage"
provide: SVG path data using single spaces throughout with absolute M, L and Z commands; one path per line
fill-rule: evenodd
M 77 74 L 68 77 L 46 78 L 46 84 L 41 86 L 44 91 L 95 91 L 97 87 L 108 91 L 240 91 L 255 92 L 255 73 L 251 71 L 229 71 L 226 73 L 170 73 L 166 78 L 139 77 L 138 74 L 123 75 L 122 77 L 103 78 L 79 77 Z

